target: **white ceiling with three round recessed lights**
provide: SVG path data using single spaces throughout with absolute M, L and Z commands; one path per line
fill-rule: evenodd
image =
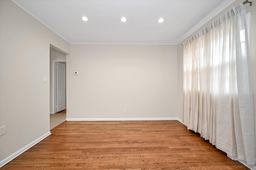
M 234 0 L 13 0 L 69 43 L 178 44 Z M 83 21 L 86 16 L 88 21 Z M 120 18 L 126 17 L 126 22 Z M 164 18 L 163 23 L 158 23 Z

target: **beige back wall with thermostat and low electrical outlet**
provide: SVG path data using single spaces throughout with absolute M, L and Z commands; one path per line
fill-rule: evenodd
M 176 45 L 71 44 L 66 76 L 67 118 L 177 116 Z

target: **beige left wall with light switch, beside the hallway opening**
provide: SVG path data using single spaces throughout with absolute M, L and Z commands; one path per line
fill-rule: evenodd
M 69 43 L 9 0 L 0 0 L 0 160 L 50 130 L 50 44 Z M 48 82 L 43 82 L 47 76 Z

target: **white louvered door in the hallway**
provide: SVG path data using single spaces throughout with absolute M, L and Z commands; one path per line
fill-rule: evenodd
M 65 64 L 56 63 L 56 112 L 66 109 Z

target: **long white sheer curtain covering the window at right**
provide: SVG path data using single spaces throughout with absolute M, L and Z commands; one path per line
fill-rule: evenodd
M 246 12 L 239 4 L 183 43 L 184 124 L 230 156 L 256 163 Z

